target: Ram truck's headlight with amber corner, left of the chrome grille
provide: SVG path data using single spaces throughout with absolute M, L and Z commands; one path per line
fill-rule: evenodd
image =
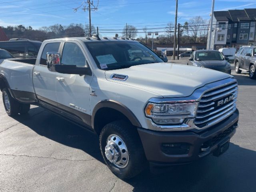
M 154 104 L 148 103 L 145 108 L 146 117 L 152 118 L 156 124 L 182 124 L 186 118 L 196 116 L 197 102 Z

